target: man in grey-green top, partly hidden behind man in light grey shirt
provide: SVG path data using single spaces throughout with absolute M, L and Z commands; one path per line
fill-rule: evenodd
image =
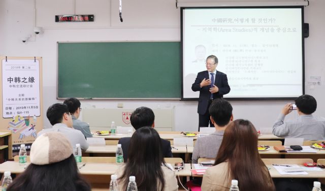
M 77 98 L 68 98 L 64 100 L 64 104 L 68 105 L 69 112 L 72 113 L 73 128 L 82 132 L 87 137 L 92 137 L 89 125 L 85 122 L 78 120 L 81 112 L 81 103 Z

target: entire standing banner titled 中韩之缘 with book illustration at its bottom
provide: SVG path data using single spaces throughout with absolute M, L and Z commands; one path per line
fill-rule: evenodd
M 27 150 L 43 128 L 42 113 L 42 58 L 0 57 L 2 94 L 0 107 L 1 129 L 12 132 L 12 150 L 20 144 Z

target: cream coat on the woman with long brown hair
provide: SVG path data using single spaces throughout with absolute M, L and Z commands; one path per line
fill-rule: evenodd
M 229 191 L 231 176 L 228 173 L 228 162 L 210 167 L 203 175 L 202 191 Z

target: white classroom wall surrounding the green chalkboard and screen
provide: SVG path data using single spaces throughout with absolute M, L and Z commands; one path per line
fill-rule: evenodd
M 309 2 L 310 6 L 305 8 L 305 22 L 310 27 L 310 36 L 305 39 L 306 94 L 313 95 L 318 102 L 315 115 L 325 117 L 325 101 L 322 99 L 325 95 L 325 1 Z M 61 102 L 56 100 L 56 42 L 180 41 L 180 9 L 176 9 L 174 0 L 122 0 L 123 23 L 119 21 L 118 4 L 118 0 L 0 1 L 0 55 L 43 57 L 45 127 L 51 126 L 46 119 L 46 109 Z M 94 14 L 95 22 L 55 23 L 54 15 L 60 14 Z M 35 35 L 35 25 L 43 27 L 44 33 Z M 29 41 L 22 43 L 23 36 L 29 36 Z M 311 76 L 321 77 L 321 85 L 309 86 Z M 264 131 L 272 130 L 273 122 L 286 102 L 231 101 L 235 119 L 251 120 L 256 129 Z M 116 108 L 117 103 L 123 103 L 124 108 L 175 106 L 176 130 L 197 130 L 196 101 L 91 100 L 82 101 L 82 107 Z M 296 117 L 297 113 L 293 112 L 286 119 Z

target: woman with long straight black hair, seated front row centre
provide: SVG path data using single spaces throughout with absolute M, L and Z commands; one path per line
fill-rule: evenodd
M 132 135 L 127 163 L 116 171 L 120 190 L 126 190 L 129 176 L 136 177 L 138 191 L 178 190 L 174 171 L 165 164 L 159 139 L 151 127 L 142 127 Z

